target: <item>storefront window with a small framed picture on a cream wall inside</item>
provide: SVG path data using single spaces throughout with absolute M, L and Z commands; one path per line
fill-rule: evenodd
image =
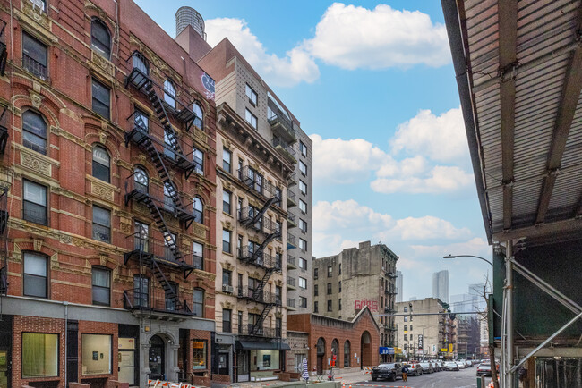
M 82 375 L 111 373 L 111 335 L 82 334 Z

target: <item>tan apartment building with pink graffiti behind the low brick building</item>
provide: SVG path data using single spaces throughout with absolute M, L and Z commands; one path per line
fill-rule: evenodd
M 351 320 L 364 307 L 372 314 L 394 312 L 398 256 L 386 245 L 360 242 L 335 256 L 313 260 L 313 313 Z M 375 316 L 380 346 L 393 348 L 393 316 Z M 375 350 L 380 351 L 380 350 Z M 393 351 L 383 356 L 393 358 Z

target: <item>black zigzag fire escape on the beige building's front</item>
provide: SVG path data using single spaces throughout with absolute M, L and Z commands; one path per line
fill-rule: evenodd
M 239 287 L 238 297 L 257 301 L 264 304 L 261 316 L 257 318 L 253 325 L 249 325 L 246 335 L 266 335 L 268 330 L 262 326 L 265 318 L 269 315 L 273 307 L 281 306 L 281 296 L 275 296 L 265 291 L 265 284 L 269 282 L 270 275 L 275 271 L 281 272 L 281 257 L 272 257 L 265 252 L 270 241 L 281 237 L 281 226 L 264 215 L 271 205 L 281 203 L 281 191 L 266 181 L 261 175 L 248 166 L 244 166 L 238 171 L 238 178 L 253 193 L 258 194 L 264 200 L 261 208 L 244 207 L 238 213 L 238 220 L 248 228 L 252 228 L 265 237 L 261 244 L 250 243 L 247 248 L 238 249 L 238 258 L 244 263 L 258 266 L 264 269 L 265 274 L 261 280 L 255 284 L 254 288 Z M 277 334 L 277 333 L 275 333 Z M 280 336 L 280 335 L 279 335 Z

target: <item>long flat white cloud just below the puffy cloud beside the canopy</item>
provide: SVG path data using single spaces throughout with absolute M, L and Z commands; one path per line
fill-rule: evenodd
M 472 175 L 459 167 L 437 165 L 421 176 L 400 174 L 398 178 L 378 178 L 370 183 L 370 187 L 384 194 L 434 194 L 466 189 L 472 181 Z

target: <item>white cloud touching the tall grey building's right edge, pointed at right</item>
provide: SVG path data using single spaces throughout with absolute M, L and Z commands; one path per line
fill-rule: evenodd
M 365 180 L 372 171 L 389 164 L 391 156 L 364 139 L 322 139 L 313 142 L 313 178 L 321 182 L 354 183 Z

